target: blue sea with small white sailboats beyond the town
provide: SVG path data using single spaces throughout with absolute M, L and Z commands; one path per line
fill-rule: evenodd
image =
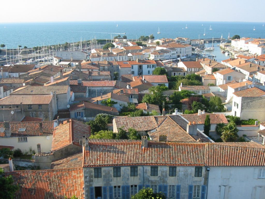
M 117 26 L 118 25 L 118 26 Z M 187 28 L 185 28 L 187 25 Z M 213 30 L 209 30 L 209 27 Z M 1 23 L 0 44 L 7 48 L 63 44 L 65 42 L 110 39 L 119 33 L 127 38 L 139 38 L 153 34 L 157 38 L 189 37 L 191 39 L 228 37 L 264 38 L 265 26 L 259 22 L 210 22 L 210 21 L 96 21 L 96 22 L 47 22 L 47 23 Z M 255 26 L 256 31 L 253 31 Z M 161 34 L 157 34 L 158 27 Z M 204 34 L 204 28 L 206 35 Z M 123 34 L 121 34 L 123 36 Z

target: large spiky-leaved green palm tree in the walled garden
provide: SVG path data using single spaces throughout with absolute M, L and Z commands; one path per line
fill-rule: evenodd
M 237 135 L 238 129 L 236 128 L 236 124 L 233 122 L 228 123 L 223 127 L 223 132 L 221 135 L 221 139 L 223 142 L 235 142 L 238 138 Z

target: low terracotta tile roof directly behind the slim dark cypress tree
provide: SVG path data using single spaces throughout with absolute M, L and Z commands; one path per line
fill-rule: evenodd
M 189 122 L 194 121 L 196 124 L 204 124 L 206 115 L 210 116 L 211 124 L 219 124 L 219 123 L 228 124 L 228 121 L 224 114 L 201 114 L 201 115 L 183 114 L 181 116 L 185 118 L 186 120 L 188 120 Z

